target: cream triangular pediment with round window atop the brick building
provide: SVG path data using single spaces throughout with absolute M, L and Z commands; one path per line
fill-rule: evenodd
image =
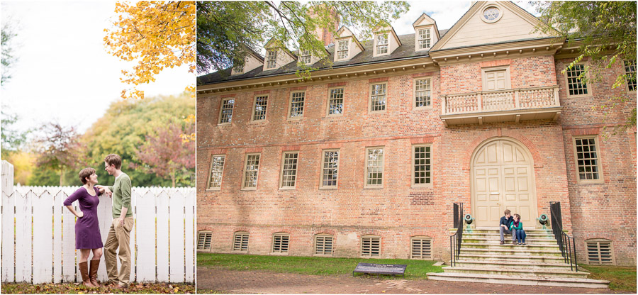
M 492 8 L 498 13 L 491 13 Z M 489 17 L 484 16 L 486 11 Z M 552 37 L 536 30 L 538 22 L 538 18 L 510 1 L 478 1 L 432 51 Z

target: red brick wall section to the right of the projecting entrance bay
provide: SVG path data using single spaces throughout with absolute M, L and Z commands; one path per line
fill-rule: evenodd
M 586 263 L 586 240 L 605 238 L 612 240 L 617 264 L 636 265 L 636 131 L 629 129 L 612 134 L 614 126 L 625 123 L 629 112 L 636 108 L 636 94 L 627 93 L 625 85 L 612 89 L 617 74 L 625 71 L 617 64 L 610 69 L 597 69 L 598 76 L 591 75 L 591 78 L 600 79 L 591 83 L 591 96 L 567 96 L 566 80 L 561 70 L 571 61 L 556 61 L 556 79 L 561 84 L 561 105 L 564 106 L 561 123 L 564 127 L 573 235 L 576 249 L 579 254 L 582 253 L 578 260 Z M 605 112 L 592 109 L 609 105 L 610 96 L 628 100 L 606 116 Z M 576 135 L 597 135 L 602 183 L 578 183 L 573 152 L 573 136 Z

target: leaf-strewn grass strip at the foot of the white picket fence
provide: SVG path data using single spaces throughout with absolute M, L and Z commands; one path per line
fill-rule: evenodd
M 130 284 L 128 289 L 121 291 L 107 286 L 101 288 L 87 288 L 82 284 L 26 284 L 2 283 L 3 294 L 195 294 L 194 284 Z

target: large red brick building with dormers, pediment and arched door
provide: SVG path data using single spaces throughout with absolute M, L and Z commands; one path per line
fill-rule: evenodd
M 417 8 L 413 8 L 417 9 Z M 277 50 L 197 87 L 201 250 L 449 259 L 452 204 L 525 227 L 561 202 L 584 263 L 636 264 L 635 61 L 565 74 L 578 55 L 510 2 L 476 2 L 449 30 L 323 34 L 333 65 Z M 326 37 L 328 36 L 328 37 Z M 298 62 L 319 67 L 299 81 Z M 628 100 L 607 116 L 593 107 Z M 586 254 L 588 253 L 588 254 Z M 598 257 L 598 260 L 596 260 Z

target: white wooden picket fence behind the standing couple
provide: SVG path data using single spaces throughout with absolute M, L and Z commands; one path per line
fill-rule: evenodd
M 14 189 L 13 165 L 2 161 L 1 168 L 2 282 L 82 282 L 76 218 L 62 205 L 79 187 Z M 130 281 L 194 283 L 195 189 L 134 187 L 131 194 Z M 79 210 L 77 201 L 72 206 Z M 111 199 L 100 196 L 97 210 L 105 242 L 113 221 Z M 104 257 L 98 279 L 107 279 Z

